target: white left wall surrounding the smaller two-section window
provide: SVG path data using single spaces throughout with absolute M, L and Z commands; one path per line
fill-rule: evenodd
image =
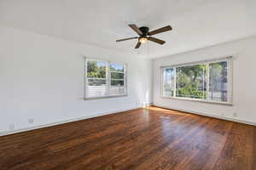
M 5 26 L 0 26 L 0 48 L 0 133 L 12 124 L 15 130 L 30 128 L 151 102 L 152 63 L 137 54 Z M 128 96 L 84 100 L 84 56 L 127 63 Z

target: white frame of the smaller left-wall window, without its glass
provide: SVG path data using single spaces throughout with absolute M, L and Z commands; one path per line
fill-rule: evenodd
M 102 61 L 102 62 L 106 62 L 106 78 L 88 78 L 87 77 L 87 62 L 88 61 Z M 108 61 L 108 60 L 104 60 L 104 59 L 93 59 L 93 58 L 85 58 L 84 59 L 85 62 L 85 67 L 84 67 L 84 99 L 104 99 L 104 98 L 114 98 L 114 97 L 122 97 L 122 96 L 127 96 L 127 64 L 125 63 L 121 63 L 121 62 L 114 62 L 114 61 Z M 110 65 L 111 64 L 119 64 L 119 65 L 124 65 L 124 72 L 121 71 L 110 71 Z M 124 74 L 124 79 L 111 79 L 111 72 L 119 72 L 119 73 L 123 73 Z M 88 84 L 88 79 L 106 79 L 106 86 L 107 86 L 107 94 L 106 95 L 102 95 L 102 96 L 93 96 L 90 97 L 88 96 L 88 88 L 89 88 L 89 84 Z M 115 94 L 115 95 L 110 95 L 109 94 L 109 89 L 110 88 L 120 88 L 119 86 L 111 86 L 111 80 L 118 80 L 118 81 L 124 81 L 124 90 L 125 93 L 124 94 Z

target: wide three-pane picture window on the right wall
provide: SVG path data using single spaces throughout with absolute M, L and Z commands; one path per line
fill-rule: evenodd
M 230 68 L 231 58 L 163 67 L 162 95 L 230 104 Z

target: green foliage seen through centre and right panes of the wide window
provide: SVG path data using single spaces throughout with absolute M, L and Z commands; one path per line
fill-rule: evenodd
M 210 88 L 218 91 L 218 82 L 227 82 L 227 62 L 212 63 L 210 65 Z M 206 99 L 207 65 L 192 65 L 177 68 L 176 96 Z M 214 82 L 214 84 L 212 84 Z M 216 89 L 215 89 L 216 88 Z

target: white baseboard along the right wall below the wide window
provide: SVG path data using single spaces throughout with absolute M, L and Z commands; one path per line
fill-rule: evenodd
M 175 111 L 183 111 L 183 112 L 188 112 L 188 113 L 192 113 L 192 114 L 195 114 L 195 115 L 209 116 L 209 117 L 214 117 L 214 118 L 217 118 L 217 119 L 223 119 L 223 120 L 226 120 L 226 121 L 240 122 L 240 123 L 243 123 L 243 124 L 256 126 L 256 122 L 248 122 L 248 121 L 234 119 L 234 118 L 225 117 L 225 116 L 215 116 L 215 115 L 211 115 L 211 114 L 203 113 L 203 112 L 183 110 L 183 109 L 175 108 L 175 107 L 172 107 L 172 106 L 169 106 L 169 105 L 158 105 L 158 104 L 153 104 L 153 105 L 156 106 L 156 107 L 161 107 L 161 108 L 165 108 L 165 109 L 170 109 L 170 110 L 175 110 Z

